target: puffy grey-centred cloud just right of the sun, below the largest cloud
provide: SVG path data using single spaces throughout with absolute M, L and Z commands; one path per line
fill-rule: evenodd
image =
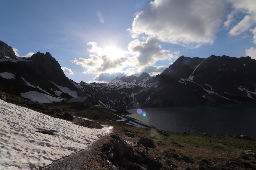
M 153 65 L 159 60 L 172 60 L 177 58 L 179 51 L 170 53 L 170 50 L 163 49 L 156 37 L 148 37 L 145 42 L 138 39 L 128 44 L 128 49 L 135 54 L 137 67 Z

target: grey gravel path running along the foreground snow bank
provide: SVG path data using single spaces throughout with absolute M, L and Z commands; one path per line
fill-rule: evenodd
M 91 145 L 87 146 L 84 150 L 73 153 L 67 157 L 63 157 L 52 162 L 50 165 L 47 165 L 39 170 L 98 170 L 103 167 L 101 165 L 106 165 L 104 159 L 99 159 L 99 155 L 96 150 L 97 146 L 101 146 L 103 141 L 109 136 L 103 136 L 99 140 L 93 142 Z M 96 164 L 98 163 L 98 165 Z

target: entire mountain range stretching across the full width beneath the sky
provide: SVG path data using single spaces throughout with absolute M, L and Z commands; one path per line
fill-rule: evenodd
M 0 90 L 40 103 L 89 96 L 111 109 L 255 105 L 255 77 L 256 60 L 249 56 L 181 56 L 156 77 L 142 73 L 77 84 L 49 52 L 21 58 L 0 41 Z

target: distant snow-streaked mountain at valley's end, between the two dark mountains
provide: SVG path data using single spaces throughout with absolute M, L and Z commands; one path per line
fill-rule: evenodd
M 136 96 L 155 82 L 154 77 L 142 73 L 139 77 L 116 77 L 109 83 L 79 83 L 84 89 L 92 92 L 106 107 L 115 109 L 133 108 Z

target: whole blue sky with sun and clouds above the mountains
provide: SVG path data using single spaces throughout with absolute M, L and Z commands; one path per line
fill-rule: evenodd
M 0 40 L 79 83 L 155 76 L 178 57 L 256 59 L 256 0 L 0 0 Z

